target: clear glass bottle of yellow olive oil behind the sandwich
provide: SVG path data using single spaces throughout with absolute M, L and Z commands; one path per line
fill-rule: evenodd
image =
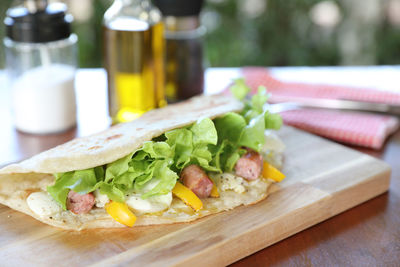
M 104 65 L 113 123 L 166 104 L 164 26 L 144 0 L 116 0 L 104 15 Z

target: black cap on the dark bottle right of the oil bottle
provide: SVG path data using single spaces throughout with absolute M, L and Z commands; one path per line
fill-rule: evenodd
M 200 14 L 203 0 L 154 0 L 163 16 L 197 16 Z

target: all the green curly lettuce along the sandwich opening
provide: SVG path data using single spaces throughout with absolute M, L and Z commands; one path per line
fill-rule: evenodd
M 188 127 L 167 131 L 103 166 L 54 174 L 55 183 L 47 191 L 66 209 L 70 190 L 87 194 L 98 189 L 111 200 L 124 202 L 131 192 L 140 193 L 143 199 L 171 192 L 180 171 L 190 164 L 207 172 L 232 171 L 246 153 L 244 148 L 260 151 L 265 129 L 279 129 L 282 119 L 264 109 L 268 100 L 264 87 L 246 98 L 250 89 L 243 79 L 237 79 L 231 91 L 245 105 L 240 113 L 229 112 L 214 120 L 202 118 Z M 146 189 L 151 180 L 156 185 Z

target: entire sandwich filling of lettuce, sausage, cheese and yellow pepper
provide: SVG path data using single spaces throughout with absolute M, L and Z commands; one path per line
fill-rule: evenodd
M 56 173 L 47 192 L 28 196 L 29 208 L 55 218 L 106 210 L 117 222 L 132 226 L 141 215 L 196 218 L 224 206 L 221 202 L 230 202 L 225 203 L 229 207 L 255 202 L 257 195 L 266 194 L 268 178 L 284 177 L 277 170 L 284 145 L 273 133 L 282 120 L 265 109 L 265 88 L 246 99 L 249 88 L 239 79 L 231 91 L 245 104 L 240 113 L 167 131 L 109 164 Z M 246 194 L 249 203 L 240 197 Z

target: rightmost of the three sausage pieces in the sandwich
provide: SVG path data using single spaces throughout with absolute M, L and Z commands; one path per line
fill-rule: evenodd
M 260 177 L 262 166 L 263 158 L 260 153 L 247 149 L 247 153 L 236 162 L 235 172 L 247 180 L 256 180 Z

